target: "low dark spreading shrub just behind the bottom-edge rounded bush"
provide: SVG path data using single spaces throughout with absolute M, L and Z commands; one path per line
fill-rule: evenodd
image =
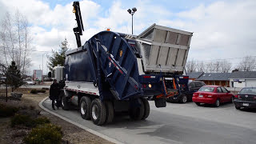
M 16 114 L 10 120 L 10 126 L 26 126 L 26 127 L 35 127 L 38 125 L 50 123 L 49 118 L 41 117 L 41 118 L 30 118 L 29 115 Z

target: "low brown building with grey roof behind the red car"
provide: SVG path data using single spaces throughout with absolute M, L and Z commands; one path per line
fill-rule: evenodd
M 205 82 L 206 85 L 230 86 L 231 73 L 204 73 L 200 78 L 195 80 Z

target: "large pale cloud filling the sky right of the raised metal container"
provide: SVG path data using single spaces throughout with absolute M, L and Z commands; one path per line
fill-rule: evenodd
M 239 58 L 256 55 L 255 6 L 255 1 L 214 2 L 159 22 L 194 32 L 189 58 Z

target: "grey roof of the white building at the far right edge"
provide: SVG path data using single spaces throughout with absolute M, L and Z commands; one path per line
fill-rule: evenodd
M 256 71 L 234 71 L 230 74 L 230 78 L 256 78 Z

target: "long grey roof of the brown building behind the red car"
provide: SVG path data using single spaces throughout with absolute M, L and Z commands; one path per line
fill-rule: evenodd
M 198 81 L 228 81 L 231 73 L 204 73 Z

